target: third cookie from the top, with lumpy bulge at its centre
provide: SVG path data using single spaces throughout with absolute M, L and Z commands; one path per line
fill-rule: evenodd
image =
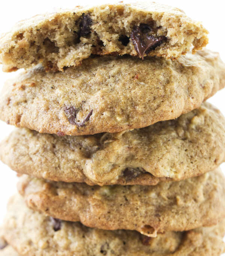
M 14 130 L 0 143 L 13 170 L 54 181 L 89 185 L 183 180 L 225 160 L 225 119 L 209 103 L 175 120 L 141 129 L 89 136 Z

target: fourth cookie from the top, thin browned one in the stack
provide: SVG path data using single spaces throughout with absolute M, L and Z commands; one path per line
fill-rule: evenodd
M 54 218 L 151 237 L 212 226 L 225 218 L 225 177 L 219 169 L 156 186 L 88 186 L 24 174 L 18 190 L 29 207 Z

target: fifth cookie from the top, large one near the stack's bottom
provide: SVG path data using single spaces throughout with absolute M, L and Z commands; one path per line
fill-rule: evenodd
M 11 198 L 4 222 L 5 238 L 24 256 L 219 256 L 225 247 L 224 221 L 188 232 L 166 232 L 148 238 L 135 231 L 92 229 L 28 209 Z

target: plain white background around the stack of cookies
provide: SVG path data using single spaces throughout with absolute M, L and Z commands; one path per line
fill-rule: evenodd
M 147 0 L 148 1 L 148 0 Z M 112 1 L 109 1 L 112 3 Z M 183 9 L 186 14 L 198 21 L 202 21 L 203 25 L 210 32 L 208 48 L 220 52 L 220 56 L 225 61 L 225 14 L 224 1 L 198 1 L 198 0 L 155 0 L 155 2 L 168 4 Z M 104 0 L 97 0 L 98 3 L 108 3 Z M 7 32 L 13 24 L 24 18 L 46 11 L 55 11 L 58 8 L 72 8 L 77 5 L 93 4 L 93 1 L 83 0 L 20 0 L 20 1 L 2 1 L 0 8 L 0 33 Z M 17 73 L 17 72 L 16 72 Z M 0 89 L 4 81 L 15 76 L 14 73 L 3 73 L 0 71 Z M 208 101 L 213 103 L 225 115 L 225 90 L 219 91 Z M 10 131 L 12 126 L 6 125 L 0 121 L 0 140 L 3 139 Z M 225 170 L 225 165 L 222 165 Z M 6 203 L 10 195 L 16 192 L 17 177 L 15 172 L 11 171 L 6 165 L 0 163 L 0 222 L 6 212 Z

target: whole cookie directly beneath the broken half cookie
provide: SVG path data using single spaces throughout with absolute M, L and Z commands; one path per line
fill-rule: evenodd
M 86 59 L 65 72 L 31 69 L 6 82 L 0 119 L 40 133 L 87 135 L 177 118 L 225 85 L 225 64 L 209 50 L 144 60 Z

